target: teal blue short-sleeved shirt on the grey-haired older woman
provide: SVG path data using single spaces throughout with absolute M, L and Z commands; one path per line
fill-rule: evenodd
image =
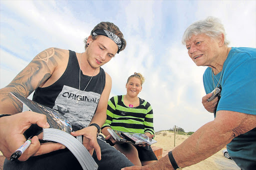
M 215 86 L 220 76 L 221 72 L 213 74 Z M 206 94 L 213 90 L 209 67 L 203 74 L 203 85 Z M 216 111 L 256 115 L 256 48 L 232 47 L 223 64 L 219 85 L 222 90 Z M 227 151 L 242 170 L 256 170 L 256 128 L 234 138 Z

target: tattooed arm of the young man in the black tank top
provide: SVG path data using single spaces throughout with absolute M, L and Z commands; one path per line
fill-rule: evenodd
M 22 105 L 19 101 L 13 100 L 8 92 L 16 92 L 24 97 L 28 97 L 37 87 L 45 82 L 52 74 L 57 61 L 62 60 L 62 51 L 60 49 L 48 48 L 39 54 L 6 86 L 6 90 L 1 90 L 1 102 L 11 100 L 10 103 L 18 110 L 22 111 Z M 20 106 L 21 105 L 21 106 Z

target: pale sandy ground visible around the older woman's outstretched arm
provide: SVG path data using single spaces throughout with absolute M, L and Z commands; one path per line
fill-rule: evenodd
M 188 137 L 189 136 L 187 135 L 176 135 L 175 147 L 181 144 Z M 170 131 L 158 132 L 156 133 L 154 139 L 157 141 L 157 143 L 153 144 L 152 146 L 162 148 L 162 157 L 168 154 L 168 152 L 174 148 L 174 133 Z M 190 167 L 183 168 L 182 170 L 240 170 L 233 160 L 226 159 L 222 155 L 222 150 L 207 158 L 206 160 Z

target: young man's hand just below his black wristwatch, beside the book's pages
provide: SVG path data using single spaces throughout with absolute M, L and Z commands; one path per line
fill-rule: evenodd
M 96 131 L 95 131 L 96 130 Z M 98 161 L 101 160 L 101 152 L 100 147 L 97 142 L 97 129 L 94 126 L 89 126 L 86 128 L 83 128 L 76 132 L 71 132 L 71 135 L 73 136 L 79 136 L 83 135 L 82 144 L 83 146 L 88 150 L 90 155 L 93 154 L 93 151 L 95 150 Z

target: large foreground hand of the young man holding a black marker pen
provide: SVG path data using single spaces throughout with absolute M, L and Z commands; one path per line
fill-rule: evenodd
M 23 133 L 31 124 L 37 124 L 41 128 L 49 128 L 46 116 L 35 112 L 27 111 L 0 118 L 0 151 L 8 160 L 11 154 L 26 141 Z M 37 136 L 34 136 L 31 139 L 30 146 L 18 160 L 26 161 L 31 156 L 47 154 L 64 148 L 65 146 L 58 143 L 45 143 L 40 145 Z

